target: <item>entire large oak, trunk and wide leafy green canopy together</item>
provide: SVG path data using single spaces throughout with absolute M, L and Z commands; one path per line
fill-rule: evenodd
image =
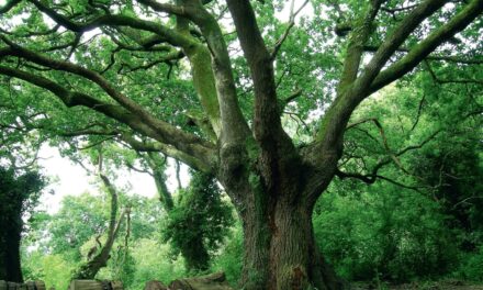
M 401 158 L 481 116 L 482 11 L 482 0 L 10 0 L 0 8 L 2 122 L 67 140 L 70 154 L 115 141 L 212 174 L 243 221 L 243 288 L 340 289 L 315 242 L 318 198 L 336 176 L 438 183 L 411 170 L 441 167 L 450 153 L 419 168 Z M 387 137 L 384 109 L 357 110 L 371 96 L 384 102 L 393 82 L 408 102 L 423 94 L 389 124 L 400 140 Z M 460 90 L 472 97 L 449 102 Z M 426 102 L 454 114 L 419 131 Z M 382 175 L 387 166 L 413 179 Z

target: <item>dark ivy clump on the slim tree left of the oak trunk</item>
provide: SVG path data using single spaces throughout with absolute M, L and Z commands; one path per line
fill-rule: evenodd
M 190 187 L 169 212 L 164 232 L 175 255 L 182 253 L 188 271 L 207 270 L 210 256 L 220 247 L 233 223 L 233 210 L 211 175 L 192 172 Z

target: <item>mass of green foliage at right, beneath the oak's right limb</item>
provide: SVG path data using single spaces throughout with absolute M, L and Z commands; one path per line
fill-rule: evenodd
M 370 185 L 336 180 L 316 207 L 319 246 L 350 280 L 437 278 L 479 260 L 480 105 L 423 76 L 356 111 L 340 168 Z

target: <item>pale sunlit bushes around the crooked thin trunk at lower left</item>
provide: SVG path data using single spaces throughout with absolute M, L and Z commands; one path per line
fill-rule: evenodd
M 104 243 L 104 230 L 109 221 L 109 202 L 103 196 L 82 193 L 67 196 L 57 213 L 52 215 L 37 212 L 34 223 L 23 239 L 23 270 L 29 278 L 45 279 L 50 286 L 61 289 L 71 277 L 72 270 L 82 264 L 88 252 L 97 246 L 96 237 Z M 120 236 L 114 244 L 108 268 L 98 278 L 121 279 L 126 287 L 134 285 L 139 269 L 136 265 L 145 257 L 136 256 L 139 243 L 144 239 L 159 239 L 160 221 L 164 212 L 159 202 L 137 196 L 121 194 L 120 204 L 131 205 L 131 231 L 125 252 L 126 224 L 123 223 Z M 47 233 L 47 235 L 45 235 Z M 149 249 L 143 249 L 148 253 Z M 168 255 L 166 248 L 162 249 Z M 124 258 L 124 255 L 126 257 Z M 167 259 L 167 258 L 165 258 Z M 169 259 L 167 259 L 169 260 Z M 48 274 L 46 268 L 48 267 Z M 154 267 L 147 265 L 146 267 Z

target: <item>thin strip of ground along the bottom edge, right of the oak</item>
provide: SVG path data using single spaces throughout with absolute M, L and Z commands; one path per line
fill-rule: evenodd
M 382 282 L 379 287 L 373 282 L 352 283 L 352 290 L 483 290 L 483 285 L 464 282 L 460 280 L 419 281 L 404 285 L 389 285 Z

